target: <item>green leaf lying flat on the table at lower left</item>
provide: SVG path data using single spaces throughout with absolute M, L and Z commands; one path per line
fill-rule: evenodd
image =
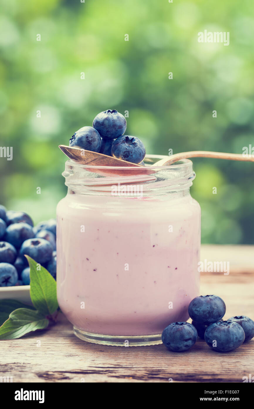
M 11 312 L 9 319 L 0 327 L 0 339 L 20 338 L 31 331 L 46 328 L 49 320 L 39 311 L 18 308 Z

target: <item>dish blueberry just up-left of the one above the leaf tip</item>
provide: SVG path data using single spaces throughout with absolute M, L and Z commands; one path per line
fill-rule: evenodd
M 27 223 L 20 222 L 7 227 L 4 240 L 18 249 L 24 240 L 32 237 L 34 237 L 33 228 Z

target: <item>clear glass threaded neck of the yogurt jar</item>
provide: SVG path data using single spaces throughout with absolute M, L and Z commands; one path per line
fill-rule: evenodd
M 69 160 L 62 175 L 69 194 L 136 197 L 186 196 L 195 178 L 190 160 L 144 168 L 95 168 Z

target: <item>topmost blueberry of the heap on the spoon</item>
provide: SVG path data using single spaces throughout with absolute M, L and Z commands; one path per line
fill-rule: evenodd
M 126 131 L 126 119 L 117 110 L 108 109 L 100 112 L 93 120 L 93 127 L 102 138 L 115 139 Z

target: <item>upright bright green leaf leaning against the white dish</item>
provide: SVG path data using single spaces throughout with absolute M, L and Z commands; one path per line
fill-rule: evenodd
M 58 308 L 56 282 L 46 268 L 26 256 L 30 266 L 30 297 L 35 308 L 44 315 L 51 315 Z

